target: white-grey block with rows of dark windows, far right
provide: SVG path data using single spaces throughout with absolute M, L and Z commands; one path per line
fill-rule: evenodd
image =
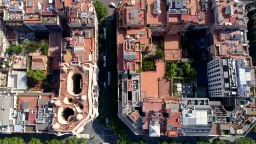
M 252 85 L 245 59 L 217 58 L 207 63 L 210 97 L 249 97 Z

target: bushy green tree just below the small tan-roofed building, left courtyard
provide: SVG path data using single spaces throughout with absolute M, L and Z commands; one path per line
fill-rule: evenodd
M 44 70 L 30 70 L 27 71 L 27 77 L 34 82 L 43 82 L 46 80 Z

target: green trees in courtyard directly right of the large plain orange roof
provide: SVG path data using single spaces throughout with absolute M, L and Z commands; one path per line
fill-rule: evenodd
M 166 62 L 166 78 L 173 77 L 194 78 L 197 75 L 196 69 L 191 67 L 191 62 Z

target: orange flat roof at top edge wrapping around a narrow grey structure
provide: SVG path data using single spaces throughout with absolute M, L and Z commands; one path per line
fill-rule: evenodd
M 160 0 L 161 14 L 158 17 L 156 17 L 155 14 L 153 14 L 154 1 L 155 0 L 148 0 L 147 23 L 148 24 L 166 23 L 167 22 L 167 14 L 165 11 L 165 2 Z

